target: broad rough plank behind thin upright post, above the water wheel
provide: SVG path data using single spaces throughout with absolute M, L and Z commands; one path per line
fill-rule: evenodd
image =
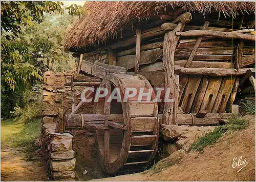
M 163 56 L 163 50 L 160 48 L 140 52 L 140 65 L 154 63 Z M 118 57 L 117 66 L 127 69 L 135 67 L 135 55 L 126 55 Z

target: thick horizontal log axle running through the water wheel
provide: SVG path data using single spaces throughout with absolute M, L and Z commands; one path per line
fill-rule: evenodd
M 83 118 L 82 118 L 83 117 Z M 212 114 L 208 113 L 205 117 L 196 117 L 196 114 L 177 114 L 179 125 L 196 125 L 207 126 L 217 125 L 221 119 L 231 117 L 231 113 Z M 104 120 L 109 120 L 108 124 L 104 124 Z M 113 121 L 110 121 L 113 120 Z M 122 114 L 66 114 L 64 117 L 66 129 L 122 129 L 126 130 L 123 124 Z M 162 115 L 159 115 L 159 123 L 162 123 Z

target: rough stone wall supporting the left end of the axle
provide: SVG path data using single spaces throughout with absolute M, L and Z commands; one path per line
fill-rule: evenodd
M 78 83 L 73 88 L 76 97 L 76 104 L 80 102 L 79 93 L 88 83 L 88 79 L 99 78 L 79 75 L 75 73 L 45 72 L 43 86 L 43 105 L 42 105 L 42 124 L 41 124 L 41 143 L 42 155 L 47 166 L 49 177 L 54 180 L 75 178 L 75 136 L 76 131 L 70 133 L 56 133 L 57 122 L 63 121 L 63 114 L 72 111 L 72 89 L 71 78 Z M 84 104 L 79 113 L 92 113 L 93 103 Z M 92 136 L 93 137 L 93 136 Z

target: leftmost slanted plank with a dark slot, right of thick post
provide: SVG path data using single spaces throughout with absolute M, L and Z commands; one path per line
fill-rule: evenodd
M 198 86 L 200 84 L 202 76 L 190 75 L 188 83 L 185 89 L 185 94 L 181 103 L 183 112 L 189 112 L 193 104 L 194 97 L 196 95 Z

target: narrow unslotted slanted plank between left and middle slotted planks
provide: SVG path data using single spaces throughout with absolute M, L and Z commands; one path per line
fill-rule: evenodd
M 193 105 L 191 106 L 191 113 L 198 113 L 200 106 L 203 102 L 204 94 L 207 89 L 209 78 L 204 76 L 201 79 L 200 85 L 197 89 L 196 96 L 194 98 Z

